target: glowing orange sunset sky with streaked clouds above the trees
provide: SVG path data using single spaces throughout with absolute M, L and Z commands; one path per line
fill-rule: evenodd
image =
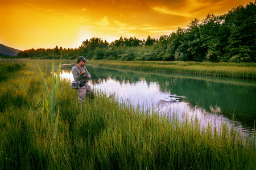
M 221 15 L 248 0 L 1 0 L 0 44 L 15 49 L 78 48 L 99 37 L 159 39 L 194 18 Z M 254 2 L 254 1 L 251 1 Z

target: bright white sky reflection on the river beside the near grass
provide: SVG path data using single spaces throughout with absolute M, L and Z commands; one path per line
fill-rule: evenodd
M 71 71 L 61 71 L 61 78 L 73 81 Z M 225 122 L 228 127 L 234 126 L 242 132 L 251 133 L 249 128 L 245 128 L 238 121 L 232 121 L 222 115 L 222 109 L 217 106 L 210 106 L 206 111 L 203 107 L 193 106 L 184 96 L 177 96 L 170 92 L 163 92 L 158 82 L 147 82 L 144 78 L 137 81 L 129 82 L 129 80 L 117 80 L 115 78 L 98 78 L 88 84 L 98 91 L 104 91 L 107 95 L 119 97 L 119 101 L 129 100 L 130 104 L 139 107 L 142 110 L 152 109 L 160 112 L 163 116 L 177 117 L 180 121 L 191 121 L 197 118 L 200 127 L 212 125 L 221 128 Z M 214 128 L 213 128 L 214 129 Z

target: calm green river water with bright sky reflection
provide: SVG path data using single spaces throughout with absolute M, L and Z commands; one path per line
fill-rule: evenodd
M 72 66 L 61 76 L 71 82 Z M 154 108 L 166 116 L 198 118 L 202 126 L 223 122 L 253 133 L 256 120 L 256 81 L 185 74 L 155 73 L 94 67 L 89 84 L 94 90 L 128 99 L 141 109 Z M 232 121 L 234 117 L 235 121 Z

